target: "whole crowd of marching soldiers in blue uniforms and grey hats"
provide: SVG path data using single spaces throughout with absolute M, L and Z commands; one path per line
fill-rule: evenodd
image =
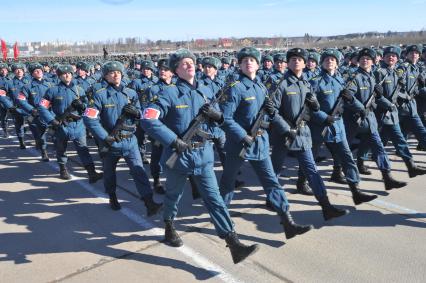
M 266 206 L 277 213 L 287 239 L 313 228 L 293 220 L 278 181 L 289 154 L 299 163 L 297 192 L 315 197 L 324 220 L 349 212 L 327 197 L 316 167 L 323 144 L 333 159 L 330 181 L 346 184 L 355 205 L 377 198 L 360 189 L 360 174 L 372 174 L 365 160 L 375 161 L 385 190 L 407 185 L 391 174 L 385 150 L 389 140 L 410 178 L 426 174 L 407 144 L 413 133 L 417 150 L 426 150 L 425 51 L 409 45 L 262 54 L 245 47 L 222 58 L 179 49 L 168 57 L 130 62 L 119 57 L 1 63 L 3 137 L 8 138 L 13 120 L 25 149 L 27 123 L 47 162 L 50 136 L 65 180 L 71 179 L 66 151 L 73 141 L 89 182 L 103 179 L 113 210 L 121 208 L 116 167 L 123 157 L 147 215 L 164 206 L 165 242 L 173 247 L 183 245 L 174 220 L 189 179 L 193 196 L 203 199 L 218 236 L 238 263 L 258 249 L 239 241 L 228 212 L 235 188 L 243 185 L 237 178 L 244 161 L 253 167 Z M 95 169 L 87 137 L 96 143 L 103 173 Z M 224 168 L 219 182 L 214 150 Z M 152 186 L 144 168 L 148 163 Z M 164 195 L 163 203 L 155 202 L 154 192 Z

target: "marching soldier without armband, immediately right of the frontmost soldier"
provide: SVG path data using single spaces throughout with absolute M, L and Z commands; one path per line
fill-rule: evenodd
M 220 104 L 224 118 L 222 128 L 227 137 L 226 170 L 220 180 L 220 192 L 225 203 L 230 205 L 238 170 L 244 160 L 248 160 L 262 184 L 267 200 L 281 218 L 286 238 L 290 239 L 308 232 L 312 226 L 299 225 L 293 221 L 285 192 L 273 173 L 266 123 L 274 118 L 274 109 L 272 102 L 266 99 L 266 87 L 256 75 L 260 52 L 253 47 L 245 47 L 238 52 L 237 58 L 241 72 L 238 80 L 226 90 L 226 97 Z M 260 117 L 265 124 L 254 136 L 250 127 L 262 107 L 268 109 L 267 115 Z

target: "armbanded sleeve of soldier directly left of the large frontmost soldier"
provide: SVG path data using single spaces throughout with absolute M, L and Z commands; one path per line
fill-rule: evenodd
M 108 136 L 108 132 L 104 129 L 100 122 L 100 114 L 102 113 L 103 108 L 102 95 L 106 95 L 106 93 L 100 92 L 93 96 L 93 103 L 86 108 L 83 115 L 84 125 L 90 130 L 96 139 L 101 141 Z

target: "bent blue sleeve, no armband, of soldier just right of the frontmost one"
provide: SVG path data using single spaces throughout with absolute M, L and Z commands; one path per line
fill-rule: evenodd
M 234 120 L 234 113 L 240 102 L 241 97 L 238 94 L 237 87 L 234 86 L 225 92 L 225 97 L 220 104 L 224 120 L 221 127 L 235 141 L 241 141 L 247 136 L 247 131 Z

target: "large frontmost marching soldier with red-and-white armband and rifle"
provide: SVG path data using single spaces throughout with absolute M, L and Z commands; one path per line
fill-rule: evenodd
M 238 240 L 219 194 L 213 170 L 212 144 L 199 136 L 190 141 L 181 139 L 198 113 L 208 119 L 209 125 L 200 125 L 204 131 L 209 131 L 214 123 L 221 123 L 222 113 L 208 103 L 213 98 L 211 91 L 195 81 L 195 56 L 191 52 L 186 49 L 176 51 L 170 56 L 169 66 L 178 76 L 176 86 L 165 89 L 158 100 L 145 109 L 142 120 L 147 133 L 163 145 L 163 160 L 167 160 L 173 152 L 178 154 L 175 165 L 165 167 L 167 182 L 163 217 L 166 243 L 174 247 L 183 245 L 173 221 L 186 179 L 193 175 L 217 234 L 225 239 L 234 263 L 238 263 L 253 254 L 257 245 L 246 246 Z

